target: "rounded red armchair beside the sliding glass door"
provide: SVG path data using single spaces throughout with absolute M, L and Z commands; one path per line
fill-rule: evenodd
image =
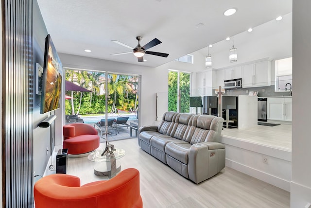
M 87 123 L 71 123 L 63 126 L 63 149 L 68 154 L 79 155 L 99 147 L 98 131 Z

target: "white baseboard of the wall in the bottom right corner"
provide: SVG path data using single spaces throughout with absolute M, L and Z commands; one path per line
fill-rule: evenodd
M 292 181 L 291 208 L 310 208 L 310 207 L 311 207 L 311 187 L 307 187 Z

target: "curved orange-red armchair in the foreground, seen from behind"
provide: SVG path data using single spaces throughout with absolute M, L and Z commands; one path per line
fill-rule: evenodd
M 34 196 L 35 208 L 142 208 L 139 172 L 134 168 L 83 186 L 73 175 L 48 175 L 35 183 Z

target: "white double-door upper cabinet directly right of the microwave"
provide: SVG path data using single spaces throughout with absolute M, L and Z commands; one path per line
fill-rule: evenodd
M 271 86 L 271 61 L 259 61 L 242 66 L 242 87 Z

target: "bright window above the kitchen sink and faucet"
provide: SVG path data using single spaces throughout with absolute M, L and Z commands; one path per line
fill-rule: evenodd
M 276 60 L 276 92 L 284 92 L 286 84 L 292 86 L 292 57 Z M 287 85 L 286 89 L 290 89 Z M 292 86 L 293 87 L 293 86 Z

